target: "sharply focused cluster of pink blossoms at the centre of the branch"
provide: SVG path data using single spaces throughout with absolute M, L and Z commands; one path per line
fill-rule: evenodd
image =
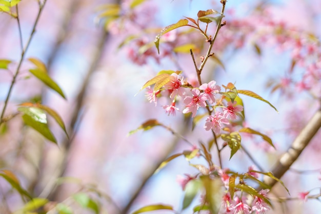
M 226 106 L 218 105 L 218 103 L 222 104 L 223 96 L 219 94 L 221 88 L 216 85 L 214 80 L 200 85 L 199 88 L 190 89 L 187 85 L 190 84 L 184 81 L 184 77 L 172 73 L 169 82 L 164 85 L 162 90 L 166 92 L 161 93 L 160 90 L 155 92 L 147 87 L 146 97 L 149 102 L 154 102 L 156 105 L 158 95 L 169 95 L 171 104 L 163 106 L 168 115 L 175 115 L 176 111 L 179 111 L 175 106 L 176 100 L 179 99 L 184 102 L 182 113 L 192 113 L 192 117 L 196 116 L 199 108 L 208 108 L 210 114 L 206 119 L 204 129 L 207 131 L 213 130 L 215 134 L 219 134 L 225 125 L 230 123 L 229 120 L 235 120 L 243 111 L 243 106 L 238 105 L 235 100 L 233 102 L 228 101 Z M 216 96 L 219 96 L 218 102 L 216 102 Z M 222 111 L 217 111 L 218 107 L 221 107 Z

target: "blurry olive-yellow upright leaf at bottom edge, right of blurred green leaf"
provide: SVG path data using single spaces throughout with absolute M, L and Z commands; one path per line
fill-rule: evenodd
M 218 178 L 211 179 L 209 176 L 201 176 L 206 194 L 205 199 L 209 203 L 211 214 L 217 214 L 223 197 L 222 181 Z

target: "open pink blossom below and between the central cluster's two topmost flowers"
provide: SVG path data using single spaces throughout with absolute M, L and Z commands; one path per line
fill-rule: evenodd
M 207 97 L 205 94 L 200 94 L 198 89 L 192 89 L 191 92 L 193 96 L 186 96 L 184 99 L 186 108 L 183 110 L 183 113 L 192 112 L 192 117 L 195 117 L 198 108 L 206 106 Z

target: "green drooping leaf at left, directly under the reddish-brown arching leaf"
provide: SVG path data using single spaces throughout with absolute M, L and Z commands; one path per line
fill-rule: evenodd
M 34 130 L 36 130 L 37 132 L 42 134 L 48 140 L 50 140 L 54 143 L 57 143 L 56 138 L 53 136 L 53 134 L 49 130 L 47 123 L 42 123 L 42 122 L 36 121 L 36 120 L 34 120 L 33 117 L 31 117 L 27 114 L 23 115 L 22 118 L 23 118 L 24 122 L 26 123 L 26 125 L 29 125 L 30 127 L 32 127 Z

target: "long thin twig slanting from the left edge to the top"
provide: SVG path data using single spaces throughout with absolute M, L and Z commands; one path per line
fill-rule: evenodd
M 0 116 L 0 124 L 3 123 L 3 118 L 4 118 L 4 115 L 5 115 L 5 112 L 6 112 L 6 109 L 7 109 L 7 106 L 8 106 L 8 102 L 9 102 L 9 98 L 11 96 L 11 92 L 12 92 L 12 89 L 13 89 L 13 85 L 16 81 L 16 78 L 19 74 L 19 71 L 20 71 L 20 68 L 22 66 L 22 62 L 25 58 L 25 53 L 27 52 L 28 48 L 29 48 L 29 45 L 31 43 L 31 39 L 33 38 L 33 34 L 35 33 L 35 29 L 36 29 L 36 26 L 38 24 L 38 20 L 39 20 L 39 17 L 41 15 L 41 12 L 43 11 L 43 8 L 46 4 L 47 0 L 44 1 L 44 3 L 42 5 L 39 4 L 39 11 L 38 11 L 38 14 L 37 14 L 37 17 L 36 17 L 36 20 L 33 24 L 33 27 L 32 27 L 32 31 L 31 31 L 31 34 L 29 36 L 29 39 L 27 41 L 27 44 L 26 44 L 26 47 L 22 50 L 22 53 L 21 53 L 21 58 L 19 60 L 19 63 L 18 63 L 18 67 L 15 71 L 15 74 L 13 75 L 13 78 L 12 78 L 12 81 L 11 81 L 11 84 L 10 84 L 10 88 L 9 88 L 9 91 L 7 93 L 7 96 L 6 96 L 6 99 L 5 99 L 5 104 L 4 104 L 4 107 L 2 109 L 2 112 L 1 112 L 1 116 Z M 22 41 L 21 41 L 22 42 Z

